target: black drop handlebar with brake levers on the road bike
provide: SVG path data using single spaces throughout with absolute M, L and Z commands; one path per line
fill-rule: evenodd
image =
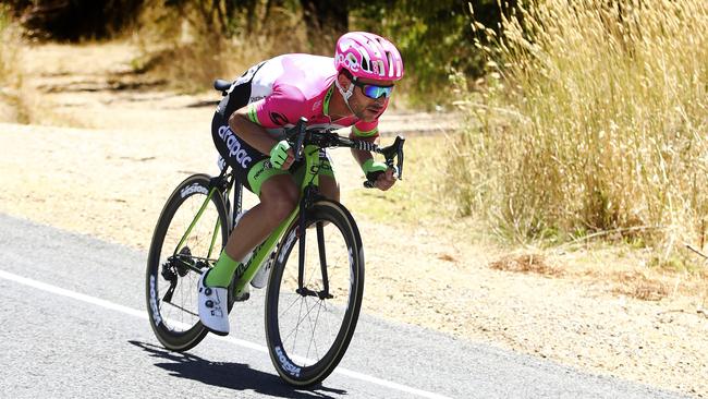
M 285 140 L 293 146 L 295 161 L 303 159 L 304 146 L 308 144 L 317 145 L 320 148 L 347 147 L 381 154 L 386 158 L 386 165 L 393 169 L 394 176 L 399 180 L 403 180 L 403 144 L 405 144 L 405 138 L 400 135 L 395 137 L 393 144 L 379 147 L 375 143 L 343 137 L 328 130 L 307 130 L 307 119 L 302 117 L 295 126 L 285 131 Z M 266 161 L 266 168 L 271 167 L 270 161 Z M 374 188 L 381 173 L 383 172 L 368 173 L 364 186 L 367 189 Z

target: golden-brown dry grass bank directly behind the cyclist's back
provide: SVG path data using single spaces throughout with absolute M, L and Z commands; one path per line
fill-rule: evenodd
M 142 56 L 133 61 L 133 70 L 164 80 L 168 87 L 183 93 L 210 89 L 215 78 L 234 78 L 277 55 L 312 52 L 302 15 L 283 8 L 269 11 L 267 25 L 257 24 L 254 32 L 242 29 L 232 37 L 196 10 L 178 13 L 159 0 L 146 8 L 142 22 L 145 27 L 136 35 Z M 245 26 L 245 20 L 233 23 Z

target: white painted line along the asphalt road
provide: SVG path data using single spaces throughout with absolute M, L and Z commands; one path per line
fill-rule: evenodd
M 78 292 L 75 292 L 75 291 L 66 290 L 66 289 L 63 289 L 63 288 L 60 288 L 60 287 L 48 285 L 46 282 L 41 282 L 41 281 L 33 280 L 30 278 L 22 277 L 22 276 L 19 276 L 19 275 L 9 273 L 9 271 L 0 270 L 0 278 L 3 278 L 5 280 L 10 280 L 10 281 L 14 281 L 14 282 L 19 282 L 21 285 L 25 285 L 25 286 L 28 286 L 28 287 L 33 287 L 33 288 L 36 288 L 36 289 L 39 289 L 39 290 L 42 290 L 42 291 L 46 291 L 46 292 L 50 292 L 50 293 L 53 293 L 53 294 L 57 294 L 57 295 L 68 297 L 68 298 L 71 298 L 71 299 L 74 299 L 74 300 L 77 300 L 77 301 L 90 303 L 93 305 L 97 305 L 97 306 L 101 306 L 101 307 L 105 307 L 105 309 L 108 309 L 108 310 L 111 310 L 111 311 L 120 312 L 120 313 L 123 313 L 123 314 L 126 314 L 126 315 L 130 315 L 130 316 L 139 317 L 139 318 L 147 318 L 147 312 L 145 312 L 145 311 L 138 311 L 138 310 L 135 310 L 133 307 L 119 305 L 118 303 L 106 301 L 106 300 L 102 300 L 100 298 L 90 297 L 90 295 L 86 295 L 86 294 L 78 293 Z M 268 353 L 268 348 L 266 348 L 266 347 L 264 347 L 261 344 L 253 343 L 253 342 L 245 341 L 243 339 L 233 338 L 233 337 L 218 337 L 218 336 L 215 336 L 215 337 L 218 338 L 219 340 L 231 342 L 231 343 L 234 343 L 234 344 L 240 346 L 240 347 L 244 347 L 244 348 L 253 349 L 253 350 L 256 350 L 256 351 L 259 351 L 259 352 Z M 355 371 L 352 371 L 352 370 L 346 370 L 346 368 L 343 368 L 343 367 L 337 367 L 337 370 L 334 370 L 334 373 L 335 374 L 341 374 L 341 375 L 344 375 L 344 376 L 347 376 L 347 377 L 351 377 L 351 378 L 361 379 L 363 382 L 380 385 L 382 387 L 387 387 L 387 388 L 400 390 L 400 391 L 403 391 L 403 392 L 416 395 L 416 396 L 419 396 L 419 397 L 423 397 L 423 398 L 449 399 L 449 397 L 443 396 L 443 395 L 439 395 L 439 394 L 435 394 L 435 392 L 428 392 L 426 390 L 416 389 L 416 388 L 410 387 L 407 385 L 398 384 L 398 383 L 393 383 L 393 382 L 390 382 L 390 380 L 373 377 L 370 375 L 358 373 L 358 372 L 355 372 Z

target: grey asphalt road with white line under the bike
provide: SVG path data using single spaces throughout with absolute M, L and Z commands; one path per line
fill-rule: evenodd
M 146 254 L 4 215 L 0 249 L 3 398 L 681 397 L 368 315 L 338 370 L 295 390 L 270 363 L 261 293 L 229 337 L 171 353 L 147 322 Z

